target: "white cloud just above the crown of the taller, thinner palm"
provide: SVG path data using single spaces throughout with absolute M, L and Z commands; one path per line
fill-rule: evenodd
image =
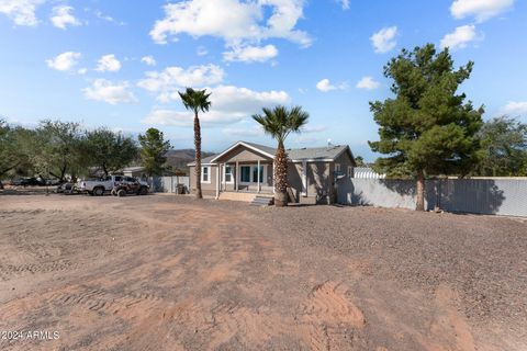
M 223 69 L 215 65 L 192 66 L 187 69 L 172 66 L 162 71 L 146 72 L 146 78 L 137 86 L 158 93 L 158 100 L 168 102 L 179 99 L 177 91 L 180 88 L 218 84 L 224 76 Z

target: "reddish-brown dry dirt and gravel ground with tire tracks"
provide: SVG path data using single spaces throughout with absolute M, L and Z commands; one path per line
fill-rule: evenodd
M 519 218 L 0 195 L 0 349 L 527 350 L 526 260 Z

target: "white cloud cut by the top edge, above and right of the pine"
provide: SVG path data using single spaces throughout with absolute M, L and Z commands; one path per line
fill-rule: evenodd
M 486 21 L 511 9 L 514 0 L 456 0 L 450 13 L 456 19 L 474 16 L 478 22 Z

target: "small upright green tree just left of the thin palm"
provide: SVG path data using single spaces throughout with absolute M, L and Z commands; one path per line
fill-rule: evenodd
M 161 176 L 166 169 L 167 151 L 170 149 L 170 143 L 165 140 L 162 132 L 156 128 L 149 128 L 145 135 L 139 135 L 141 144 L 141 163 L 148 177 Z

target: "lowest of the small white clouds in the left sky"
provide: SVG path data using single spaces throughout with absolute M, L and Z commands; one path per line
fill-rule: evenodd
M 91 87 L 83 89 L 83 92 L 88 100 L 104 101 L 112 105 L 137 102 L 126 81 L 114 83 L 105 79 L 96 79 Z

